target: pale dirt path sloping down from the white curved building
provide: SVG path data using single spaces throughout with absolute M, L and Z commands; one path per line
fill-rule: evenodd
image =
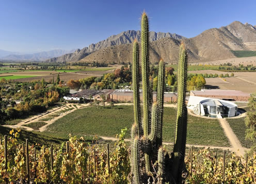
M 232 150 L 236 153 L 236 155 L 244 156 L 248 149 L 244 148 L 241 142 L 237 139 L 226 118 L 218 119 L 218 121 L 232 145 Z

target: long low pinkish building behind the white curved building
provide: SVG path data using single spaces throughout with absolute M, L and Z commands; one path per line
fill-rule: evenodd
M 228 101 L 248 101 L 250 94 L 239 90 L 202 89 L 191 90 L 190 96 L 215 98 Z

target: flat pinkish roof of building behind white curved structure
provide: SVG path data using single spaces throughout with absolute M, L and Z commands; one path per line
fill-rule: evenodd
M 220 89 L 202 89 L 202 90 L 191 90 L 194 95 L 215 95 L 215 96 L 242 96 L 250 97 L 250 94 L 244 93 L 239 90 L 220 90 Z

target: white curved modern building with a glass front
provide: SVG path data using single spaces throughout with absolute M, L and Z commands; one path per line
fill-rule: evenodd
M 226 100 L 190 96 L 187 106 L 201 116 L 223 118 L 237 115 L 237 105 Z

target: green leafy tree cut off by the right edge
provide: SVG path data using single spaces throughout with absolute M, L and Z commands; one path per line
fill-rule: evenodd
M 252 141 L 251 151 L 256 151 L 256 94 L 252 94 L 248 103 L 249 110 L 245 118 L 246 139 Z

